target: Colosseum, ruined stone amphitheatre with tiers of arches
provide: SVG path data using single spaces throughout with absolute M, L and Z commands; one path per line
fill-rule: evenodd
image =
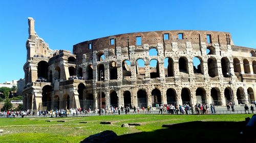
M 255 49 L 234 45 L 230 33 L 120 34 L 75 44 L 71 52 L 51 50 L 34 23 L 28 18 L 25 109 L 255 100 Z

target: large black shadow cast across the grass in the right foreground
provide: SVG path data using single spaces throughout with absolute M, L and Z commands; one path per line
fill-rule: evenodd
M 153 132 L 120 135 L 117 142 L 245 142 L 240 131 L 245 122 L 186 122 Z

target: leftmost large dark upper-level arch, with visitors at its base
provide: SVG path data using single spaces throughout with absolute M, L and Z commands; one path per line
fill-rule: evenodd
M 37 64 L 37 80 L 44 79 L 44 81 L 48 78 L 48 63 L 46 61 L 40 61 Z

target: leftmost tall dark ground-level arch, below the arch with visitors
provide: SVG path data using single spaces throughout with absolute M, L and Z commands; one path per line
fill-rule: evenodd
M 51 110 L 51 93 L 53 91 L 53 88 L 50 85 L 45 85 L 42 88 L 42 108 L 45 108 L 47 110 Z

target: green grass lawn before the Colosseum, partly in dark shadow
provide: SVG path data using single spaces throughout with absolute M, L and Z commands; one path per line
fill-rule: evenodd
M 197 136 L 210 139 L 212 135 L 217 139 L 228 135 L 229 138 L 232 139 L 233 137 L 233 140 L 236 140 L 237 136 L 233 134 L 239 131 L 236 123 L 244 121 L 247 117 L 251 118 L 251 116 L 115 115 L 77 118 L 1 118 L 0 129 L 3 129 L 4 132 L 0 134 L 0 142 L 80 142 L 84 138 L 104 130 L 113 130 L 119 136 L 118 142 L 123 143 L 136 140 L 156 142 L 183 139 L 183 137 L 188 139 L 187 137 L 197 138 Z M 46 120 L 51 120 L 51 122 L 46 122 Z M 66 122 L 57 122 L 58 120 L 65 120 Z M 79 123 L 82 121 L 88 123 Z M 110 121 L 112 124 L 99 124 L 102 121 Z M 185 124 L 187 122 L 191 124 Z M 141 123 L 141 126 L 123 128 L 121 125 L 124 123 Z M 219 127 L 219 123 L 223 127 Z M 163 128 L 163 124 L 177 124 L 177 126 L 169 129 Z M 81 128 L 75 129 L 74 127 Z

